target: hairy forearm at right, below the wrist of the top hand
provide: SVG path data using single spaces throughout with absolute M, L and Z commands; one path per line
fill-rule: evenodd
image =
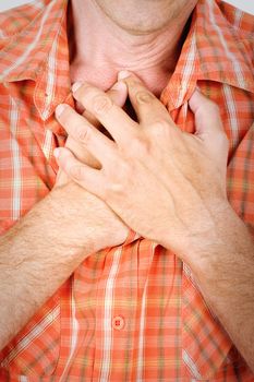
M 207 303 L 254 371 L 253 239 L 232 210 L 216 219 L 216 237 L 214 244 L 193 253 L 190 266 Z

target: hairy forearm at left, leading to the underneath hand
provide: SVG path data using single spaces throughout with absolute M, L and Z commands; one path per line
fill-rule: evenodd
M 0 348 L 96 250 L 88 212 L 81 230 L 75 198 L 61 195 L 53 191 L 0 240 Z

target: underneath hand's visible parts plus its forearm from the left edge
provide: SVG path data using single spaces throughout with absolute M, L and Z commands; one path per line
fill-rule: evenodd
M 110 94 L 124 104 L 126 89 Z M 66 145 L 99 166 L 74 141 Z M 128 232 L 107 204 L 59 172 L 52 191 L 0 238 L 0 349 L 86 256 L 123 243 Z

